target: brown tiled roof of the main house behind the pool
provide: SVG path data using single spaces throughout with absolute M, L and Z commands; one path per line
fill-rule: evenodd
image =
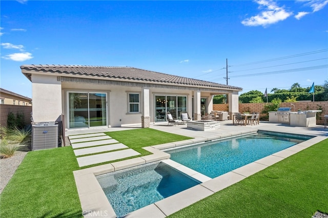
M 75 65 L 23 65 L 20 66 L 22 72 L 31 80 L 30 74 L 26 71 L 37 71 L 44 73 L 58 73 L 66 75 L 95 76 L 115 78 L 121 80 L 134 80 L 139 82 L 160 82 L 181 85 L 207 86 L 211 88 L 220 88 L 228 90 L 241 91 L 242 88 L 224 85 L 215 82 L 191 79 L 187 77 L 174 76 L 164 73 L 158 73 L 148 70 L 142 70 L 132 67 L 99 67 L 99 66 L 75 66 Z

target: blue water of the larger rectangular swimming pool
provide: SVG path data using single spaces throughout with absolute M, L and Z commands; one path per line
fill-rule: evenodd
M 310 138 L 256 133 L 166 152 L 171 154 L 171 160 L 215 178 Z

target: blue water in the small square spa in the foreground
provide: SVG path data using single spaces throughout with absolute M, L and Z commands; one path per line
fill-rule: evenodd
M 97 180 L 117 217 L 200 183 L 162 162 L 107 173 Z

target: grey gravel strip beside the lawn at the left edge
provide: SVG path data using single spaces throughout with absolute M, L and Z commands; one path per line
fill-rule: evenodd
M 0 159 L 0 193 L 4 190 L 27 152 L 16 151 L 11 158 Z

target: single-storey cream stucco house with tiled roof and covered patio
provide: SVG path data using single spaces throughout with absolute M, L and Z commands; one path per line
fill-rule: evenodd
M 132 67 L 23 65 L 32 82 L 34 122 L 56 121 L 65 128 L 166 122 L 166 113 L 193 120 L 213 109 L 213 96 L 228 94 L 229 112 L 238 112 L 241 88 Z

